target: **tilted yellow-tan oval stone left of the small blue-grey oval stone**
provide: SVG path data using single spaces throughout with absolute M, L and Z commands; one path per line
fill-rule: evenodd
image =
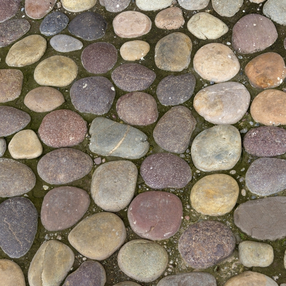
M 47 48 L 47 41 L 40 35 L 30 35 L 16 42 L 7 53 L 10 67 L 24 67 L 38 61 Z

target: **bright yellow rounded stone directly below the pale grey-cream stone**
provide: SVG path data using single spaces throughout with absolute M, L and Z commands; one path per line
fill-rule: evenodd
M 192 187 L 190 202 L 203 215 L 221 216 L 234 208 L 239 195 L 239 186 L 226 174 L 207 175 Z

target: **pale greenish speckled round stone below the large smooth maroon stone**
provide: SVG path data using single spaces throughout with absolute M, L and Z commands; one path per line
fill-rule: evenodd
M 156 242 L 134 239 L 120 249 L 117 262 L 122 272 L 132 279 L 151 282 L 164 272 L 168 254 L 164 247 Z

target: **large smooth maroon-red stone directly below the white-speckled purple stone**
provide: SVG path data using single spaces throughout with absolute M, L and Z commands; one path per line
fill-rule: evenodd
M 128 207 L 132 231 L 150 240 L 168 239 L 179 229 L 183 217 L 180 199 L 172 193 L 149 191 L 136 196 Z

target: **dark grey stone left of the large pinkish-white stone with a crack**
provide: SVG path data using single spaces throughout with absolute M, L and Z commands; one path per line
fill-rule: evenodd
M 159 82 L 156 94 L 162 105 L 179 105 L 191 98 L 195 86 L 192 74 L 170 75 Z

